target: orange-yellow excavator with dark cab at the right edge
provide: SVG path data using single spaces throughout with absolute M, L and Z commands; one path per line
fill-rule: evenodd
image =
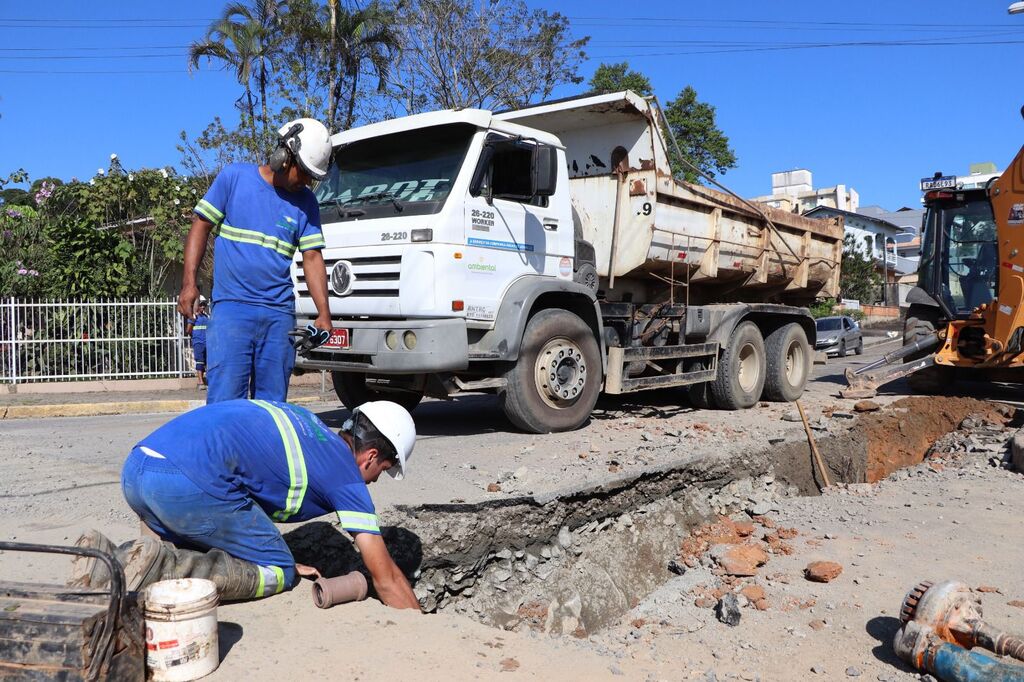
M 844 397 L 871 397 L 900 377 L 925 393 L 957 378 L 1024 381 L 1024 147 L 986 182 L 936 173 L 922 189 L 921 263 L 903 346 L 847 370 Z

